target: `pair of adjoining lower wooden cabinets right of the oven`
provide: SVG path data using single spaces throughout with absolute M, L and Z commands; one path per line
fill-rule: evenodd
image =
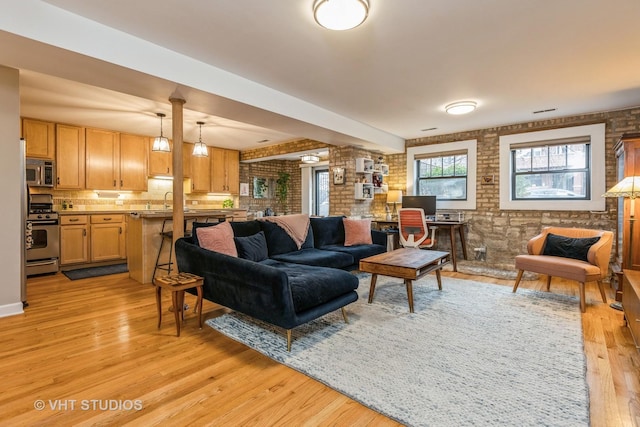
M 61 215 L 60 265 L 126 259 L 125 231 L 122 214 Z

